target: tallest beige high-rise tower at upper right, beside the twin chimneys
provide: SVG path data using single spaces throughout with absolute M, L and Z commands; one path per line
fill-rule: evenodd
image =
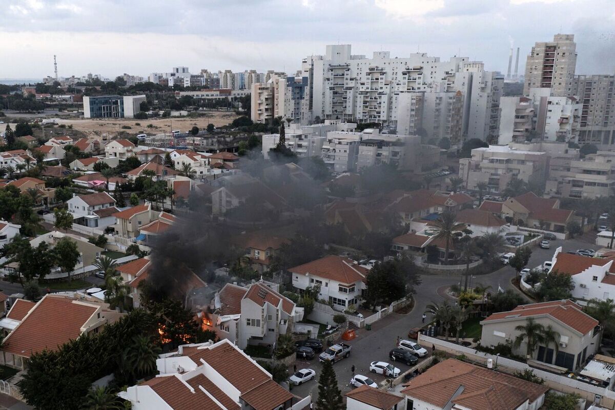
M 550 88 L 554 97 L 569 95 L 576 58 L 574 34 L 555 34 L 553 41 L 536 42 L 525 64 L 523 93 Z

